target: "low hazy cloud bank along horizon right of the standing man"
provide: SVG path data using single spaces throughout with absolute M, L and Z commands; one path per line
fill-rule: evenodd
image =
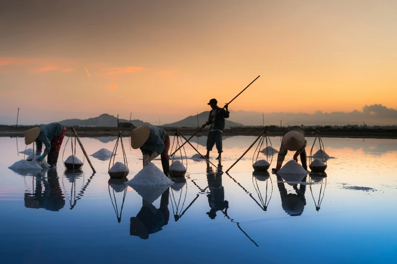
M 254 111 L 233 111 L 231 110 L 230 120 L 237 121 L 245 125 L 262 125 L 262 113 Z M 353 110 L 351 112 L 322 112 L 316 111 L 309 113 L 288 113 L 273 112 L 264 113 L 265 125 L 280 124 L 282 125 L 347 125 L 347 124 L 363 124 L 382 125 L 397 124 L 397 110 L 387 108 L 381 104 L 364 106 L 362 111 Z

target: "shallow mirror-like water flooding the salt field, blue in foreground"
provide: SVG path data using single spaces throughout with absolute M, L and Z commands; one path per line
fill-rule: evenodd
M 138 194 L 110 180 L 109 160 L 93 157 L 95 174 L 87 162 L 65 171 L 61 160 L 56 170 L 12 171 L 23 139 L 0 138 L 0 262 L 396 262 L 397 140 L 324 138 L 336 157 L 327 177 L 253 174 L 252 150 L 228 174 L 220 171 L 255 139 L 224 137 L 222 162 L 189 159 L 186 177 L 171 188 Z M 279 149 L 280 138 L 271 140 Z M 205 141 L 192 139 L 202 153 Z M 116 137 L 82 142 L 92 154 L 113 150 Z M 132 179 L 141 155 L 123 142 Z M 68 146 L 64 159 L 70 154 Z M 285 183 L 292 180 L 302 184 Z

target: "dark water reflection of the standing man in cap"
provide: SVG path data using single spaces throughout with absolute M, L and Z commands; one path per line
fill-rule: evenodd
M 218 168 L 222 168 L 219 161 Z M 207 194 L 208 205 L 211 208 L 207 212 L 209 218 L 215 219 L 216 212 L 229 207 L 229 202 L 225 201 L 225 190 L 222 186 L 222 172 L 219 170 L 214 172 L 207 161 L 207 183 L 209 186 L 209 194 Z

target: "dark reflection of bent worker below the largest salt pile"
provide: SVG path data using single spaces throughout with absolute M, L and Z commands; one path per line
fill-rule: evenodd
M 141 239 L 148 239 L 149 234 L 154 234 L 168 225 L 169 220 L 169 188 L 161 195 L 160 208 L 142 199 L 142 208 L 130 219 L 130 235 Z

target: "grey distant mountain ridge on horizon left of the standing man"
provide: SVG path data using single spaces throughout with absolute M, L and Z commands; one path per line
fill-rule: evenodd
M 119 122 L 129 122 L 129 120 L 119 119 Z M 58 123 L 64 126 L 112 126 L 117 127 L 117 117 L 109 114 L 102 114 L 98 117 L 88 118 L 88 119 L 66 119 L 59 121 Z M 152 126 L 150 123 L 143 122 L 141 120 L 131 120 L 134 126 L 139 126 L 146 124 Z

